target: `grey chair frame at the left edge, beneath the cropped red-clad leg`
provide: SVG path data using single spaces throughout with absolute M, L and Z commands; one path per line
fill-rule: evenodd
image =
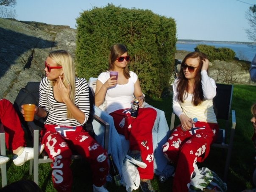
M 1 156 L 6 156 L 6 138 L 5 131 L 3 129 L 3 124 L 0 122 L 0 153 Z M 2 187 L 7 184 L 7 175 L 6 175 L 6 163 L 0 165 L 1 168 L 1 177 L 2 177 Z

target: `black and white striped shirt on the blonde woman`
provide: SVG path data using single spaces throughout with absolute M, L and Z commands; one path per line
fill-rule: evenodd
M 53 95 L 53 86 L 43 78 L 39 86 L 39 107 L 48 112 L 45 124 L 64 125 L 64 126 L 80 126 L 83 125 L 89 117 L 89 86 L 84 78 L 75 78 L 75 106 L 77 106 L 85 114 L 83 124 L 76 119 L 67 118 L 67 106 L 55 100 Z

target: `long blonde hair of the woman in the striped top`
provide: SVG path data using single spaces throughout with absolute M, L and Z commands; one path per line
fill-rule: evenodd
M 65 50 L 51 51 L 48 57 L 52 58 L 58 66 L 62 66 L 64 72 L 63 83 L 65 87 L 70 84 L 70 99 L 75 103 L 75 64 L 72 56 Z M 56 81 L 50 81 L 51 85 L 54 86 Z M 67 109 L 67 118 L 73 119 L 70 110 Z

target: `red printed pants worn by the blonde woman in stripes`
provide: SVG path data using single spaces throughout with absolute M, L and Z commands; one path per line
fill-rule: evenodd
M 53 185 L 58 192 L 70 192 L 72 189 L 72 170 L 70 169 L 72 150 L 77 151 L 90 163 L 93 183 L 96 186 L 105 184 L 106 175 L 109 172 L 106 150 L 81 126 L 45 125 L 42 135 L 45 151 L 53 160 L 51 164 Z

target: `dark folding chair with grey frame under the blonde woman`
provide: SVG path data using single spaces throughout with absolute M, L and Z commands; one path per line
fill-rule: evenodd
M 30 160 L 30 168 L 29 168 L 29 174 L 33 175 L 34 182 L 36 184 L 39 184 L 39 164 L 41 163 L 50 163 L 52 160 L 47 156 L 47 153 L 43 151 L 43 153 L 38 156 L 38 146 L 39 146 L 39 131 L 44 127 L 44 119 L 43 118 L 37 118 L 35 116 L 35 120 L 32 122 L 25 122 L 22 114 L 20 113 L 21 105 L 25 103 L 31 103 L 38 105 L 39 102 L 39 84 L 40 82 L 28 82 L 25 88 L 22 88 L 17 95 L 17 98 L 14 102 L 14 108 L 17 110 L 17 113 L 19 114 L 20 120 L 22 122 L 22 125 L 28 128 L 28 132 L 31 133 L 31 138 L 33 139 L 33 147 L 34 147 L 34 158 L 33 160 Z M 91 95 L 91 93 L 90 93 Z M 90 98 L 91 100 L 91 98 Z M 91 106 L 92 109 L 92 106 Z M 92 111 L 92 110 L 91 110 Z M 93 114 L 93 111 L 91 113 L 92 120 L 97 121 L 103 127 L 105 128 L 104 131 L 104 145 L 103 147 L 107 150 L 108 143 L 109 143 L 109 124 L 102 120 L 100 117 L 97 117 L 95 114 Z M 90 119 L 90 117 L 89 117 Z M 73 154 L 71 159 L 81 159 L 82 156 L 79 154 Z

